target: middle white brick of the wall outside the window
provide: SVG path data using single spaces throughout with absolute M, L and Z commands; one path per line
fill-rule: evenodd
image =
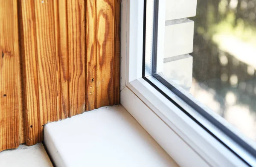
M 166 21 L 164 58 L 193 52 L 194 22 L 189 19 Z

